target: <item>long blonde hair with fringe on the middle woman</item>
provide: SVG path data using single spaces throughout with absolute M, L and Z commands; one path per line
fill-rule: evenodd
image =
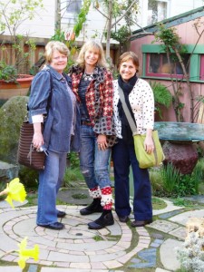
M 101 67 L 108 67 L 108 63 L 105 60 L 105 54 L 104 54 L 104 50 L 102 48 L 102 44 L 99 42 L 93 41 L 93 40 L 88 41 L 85 44 L 83 44 L 83 47 L 80 50 L 80 53 L 79 53 L 78 58 L 76 60 L 76 63 L 78 63 L 81 67 L 84 68 L 85 67 L 84 55 L 90 49 L 94 49 L 94 50 L 99 51 L 99 59 L 96 64 Z

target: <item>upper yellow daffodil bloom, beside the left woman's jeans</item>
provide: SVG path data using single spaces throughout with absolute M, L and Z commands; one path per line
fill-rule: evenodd
M 19 181 L 18 178 L 11 180 L 7 184 L 7 188 L 5 189 L 7 193 L 7 198 L 5 199 L 13 208 L 15 208 L 13 204 L 13 200 L 24 202 L 26 197 L 26 191 L 24 190 L 24 185 Z

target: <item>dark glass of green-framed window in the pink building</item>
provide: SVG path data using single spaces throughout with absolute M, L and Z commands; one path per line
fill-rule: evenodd
M 166 53 L 147 53 L 146 75 L 157 77 L 172 76 L 181 78 L 183 76 L 183 71 L 180 66 L 180 62 L 176 61 L 175 55 L 173 55 L 173 58 L 174 59 L 171 59 L 169 63 Z M 186 53 L 183 56 L 183 63 L 185 67 L 187 67 L 188 62 L 189 53 Z M 189 73 L 189 65 L 187 68 L 187 73 Z

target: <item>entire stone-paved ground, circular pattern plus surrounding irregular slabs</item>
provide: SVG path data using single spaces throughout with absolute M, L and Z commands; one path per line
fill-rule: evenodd
M 36 243 L 40 247 L 39 261 L 35 262 L 33 259 L 27 261 L 30 264 L 28 272 L 33 272 L 32 269 L 38 264 L 46 266 L 41 268 L 41 272 L 123 272 L 126 268 L 145 271 L 145 267 L 154 267 L 155 272 L 175 271 L 178 261 L 173 248 L 183 243 L 176 238 L 184 238 L 185 228 L 180 226 L 180 222 L 183 222 L 187 213 L 175 215 L 173 211 L 183 212 L 183 208 L 178 209 L 169 201 L 167 204 L 169 208 L 160 210 L 159 214 L 161 216 L 168 214 L 168 217 L 153 221 L 146 226 L 147 228 L 131 228 L 121 223 L 113 211 L 115 224 L 99 230 L 87 228 L 87 223 L 97 219 L 100 214 L 82 217 L 79 212 L 83 207 L 82 204 L 60 205 L 58 209 L 66 212 L 66 217 L 60 219 L 65 224 L 65 228 L 60 231 L 36 226 L 36 206 L 18 207 L 15 210 L 2 208 L 0 209 L 0 254 L 16 248 L 26 235 L 28 247 L 34 247 Z M 203 211 L 194 210 L 187 215 L 202 217 Z M 169 218 L 170 213 L 175 216 Z M 157 232 L 158 230 L 162 233 Z M 175 239 L 165 240 L 165 234 L 170 234 Z M 164 269 L 156 267 L 158 250 Z M 5 259 L 16 262 L 17 256 L 10 254 Z M 0 267 L 0 272 L 21 271 L 19 267 L 7 267 L 8 270 L 2 268 Z M 15 268 L 18 270 L 12 270 Z

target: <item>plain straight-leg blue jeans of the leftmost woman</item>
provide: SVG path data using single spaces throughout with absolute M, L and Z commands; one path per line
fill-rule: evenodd
M 44 170 L 39 173 L 37 224 L 57 222 L 56 195 L 63 182 L 66 153 L 49 151 Z

